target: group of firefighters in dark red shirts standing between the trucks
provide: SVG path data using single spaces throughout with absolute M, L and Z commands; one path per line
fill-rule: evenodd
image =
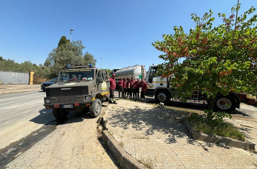
M 112 78 L 109 78 L 109 76 L 107 76 L 108 80 L 109 80 L 109 86 L 110 86 L 110 97 L 109 97 L 109 103 L 113 103 L 113 104 L 117 104 L 117 102 L 114 100 L 114 90 L 116 88 L 116 83 L 115 83 L 115 77 L 116 75 L 113 74 Z M 139 97 L 139 88 L 141 88 L 141 94 Z M 118 81 L 118 90 L 119 90 L 119 98 L 129 98 L 130 100 L 134 100 L 134 101 L 139 101 L 139 98 L 141 102 L 144 102 L 145 100 L 145 91 L 147 90 L 148 85 L 145 82 L 145 79 L 142 79 L 142 81 L 140 81 L 139 78 L 137 78 L 137 80 L 135 80 L 134 77 L 132 78 L 125 78 L 123 79 L 123 77 L 120 78 L 120 80 Z M 120 95 L 121 93 L 121 95 Z

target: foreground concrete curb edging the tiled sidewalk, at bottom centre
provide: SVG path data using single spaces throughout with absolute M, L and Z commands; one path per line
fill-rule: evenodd
M 102 140 L 112 152 L 114 158 L 124 169 L 147 169 L 142 163 L 138 162 L 135 158 L 129 155 L 119 143 L 110 136 L 107 130 L 102 131 Z

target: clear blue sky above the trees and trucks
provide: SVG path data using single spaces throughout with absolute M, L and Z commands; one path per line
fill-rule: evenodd
M 240 0 L 239 14 L 257 0 Z M 97 59 L 96 67 L 123 68 L 130 65 L 159 64 L 161 54 L 152 45 L 164 33 L 182 25 L 194 27 L 190 14 L 202 16 L 213 10 L 215 23 L 219 12 L 230 14 L 237 0 L 109 0 L 109 1 L 14 1 L 0 0 L 0 56 L 21 63 L 30 60 L 44 64 L 61 36 L 82 40 L 85 53 Z M 255 11 L 256 12 L 256 11 Z

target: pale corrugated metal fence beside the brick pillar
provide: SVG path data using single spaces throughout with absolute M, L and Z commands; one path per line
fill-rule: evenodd
M 0 71 L 1 84 L 28 84 L 29 72 Z

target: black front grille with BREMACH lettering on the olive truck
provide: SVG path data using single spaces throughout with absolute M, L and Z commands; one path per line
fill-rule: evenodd
M 67 87 L 63 87 L 67 88 Z M 46 97 L 58 97 L 58 96 L 74 96 L 74 95 L 86 95 L 88 94 L 88 86 L 69 87 L 70 90 L 61 90 L 61 88 L 46 88 Z

